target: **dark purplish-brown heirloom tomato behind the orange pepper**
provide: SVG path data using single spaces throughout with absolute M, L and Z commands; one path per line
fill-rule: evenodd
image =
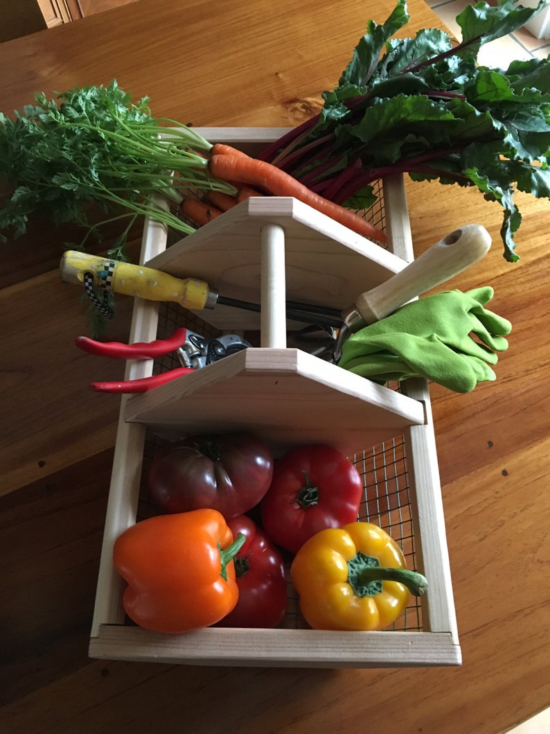
M 252 434 L 193 436 L 153 459 L 151 498 L 165 512 L 210 508 L 230 520 L 260 502 L 273 463 L 271 449 Z

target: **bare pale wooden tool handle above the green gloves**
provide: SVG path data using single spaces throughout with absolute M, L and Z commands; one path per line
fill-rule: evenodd
M 491 236 L 482 225 L 464 225 L 389 280 L 362 293 L 356 299 L 355 310 L 367 324 L 380 321 L 412 298 L 466 270 L 490 247 Z

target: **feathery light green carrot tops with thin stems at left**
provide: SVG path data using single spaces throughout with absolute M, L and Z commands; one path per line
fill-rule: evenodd
M 111 256 L 123 258 L 136 217 L 193 231 L 159 195 L 177 204 L 188 186 L 234 192 L 195 152 L 208 153 L 210 143 L 174 120 L 153 117 L 148 98 L 132 103 L 117 81 L 56 94 L 48 101 L 37 93 L 36 104 L 13 119 L 0 113 L 0 178 L 10 190 L 0 208 L 0 241 L 10 229 L 21 236 L 32 214 L 55 224 L 78 222 L 87 236 L 100 236 L 101 225 L 120 219 L 125 226 Z M 106 219 L 92 223 L 98 210 Z

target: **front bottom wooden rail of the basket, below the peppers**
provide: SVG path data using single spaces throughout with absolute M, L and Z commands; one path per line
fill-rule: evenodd
M 92 658 L 216 666 L 383 668 L 455 666 L 461 648 L 444 632 L 340 632 L 206 628 L 166 635 L 101 625 Z

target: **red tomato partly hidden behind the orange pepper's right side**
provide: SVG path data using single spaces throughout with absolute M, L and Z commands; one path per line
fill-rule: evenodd
M 228 520 L 233 537 L 246 537 L 234 559 L 239 590 L 237 606 L 219 627 L 278 625 L 287 609 L 287 579 L 281 553 L 246 515 Z

